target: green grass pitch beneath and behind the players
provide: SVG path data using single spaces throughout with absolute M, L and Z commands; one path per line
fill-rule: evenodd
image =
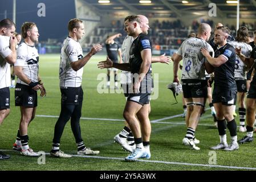
M 197 127 L 196 137 L 201 143 L 200 151 L 190 150 L 182 145 L 182 138 L 186 133 L 184 118 L 174 117 L 163 119 L 161 122 L 152 123 L 151 134 L 151 159 L 139 162 L 124 162 L 129 153 L 121 150 L 118 144 L 113 143 L 113 137 L 120 132 L 124 124 L 122 121 L 108 119 L 123 119 L 125 98 L 123 94 L 97 92 L 97 85 L 102 80 L 97 80 L 105 69 L 97 68 L 97 62 L 104 60 L 105 56 L 95 55 L 84 67 L 83 83 L 84 101 L 82 117 L 106 118 L 106 120 L 81 119 L 82 136 L 86 146 L 99 150 L 99 158 L 81 158 L 73 156 L 70 159 L 51 158 L 46 155 L 46 163 L 38 164 L 38 158 L 30 158 L 12 151 L 17 129 L 19 126 L 19 107 L 14 106 L 14 89 L 11 89 L 11 113 L 0 127 L 0 148 L 11 155 L 9 160 L 0 160 L 1 170 L 247 170 L 256 169 L 254 162 L 255 142 L 241 144 L 238 151 L 213 152 L 209 148 L 219 142 L 218 130 L 213 126 L 210 111 L 201 117 Z M 38 97 L 36 115 L 58 116 L 60 112 L 59 90 L 59 55 L 40 55 L 40 76 L 47 90 L 47 97 Z M 172 63 L 153 64 L 153 73 L 159 79 L 155 82 L 158 89 L 157 99 L 151 100 L 151 121 L 162 119 L 182 113 L 181 96 L 178 104 L 166 85 L 173 79 Z M 105 90 L 107 91 L 107 90 Z M 112 90 L 113 91 L 113 90 Z M 157 94 L 156 94 L 157 95 Z M 156 97 L 155 95 L 155 97 Z M 35 117 L 29 126 L 30 147 L 34 151 L 49 153 L 57 118 Z M 236 118 L 238 123 L 238 117 Z M 243 137 L 238 132 L 238 139 Z M 227 131 L 227 140 L 230 135 Z M 68 154 L 76 154 L 75 139 L 72 135 L 70 122 L 67 123 L 60 149 Z M 213 157 L 214 158 L 213 160 Z M 238 168 L 237 168 L 238 167 Z

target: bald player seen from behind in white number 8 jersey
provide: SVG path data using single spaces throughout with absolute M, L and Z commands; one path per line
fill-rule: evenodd
M 173 59 L 173 82 L 180 82 L 178 79 L 178 67 L 183 60 L 182 67 L 182 90 L 187 104 L 186 123 L 188 129 L 182 143 L 200 150 L 196 146 L 200 143 L 194 137 L 202 109 L 207 97 L 207 81 L 205 79 L 205 56 L 200 52 L 206 48 L 213 53 L 213 48 L 206 41 L 209 40 L 211 27 L 207 23 L 201 23 L 198 27 L 195 38 L 186 39 L 178 49 L 177 56 Z M 207 71 L 207 70 L 206 70 Z

